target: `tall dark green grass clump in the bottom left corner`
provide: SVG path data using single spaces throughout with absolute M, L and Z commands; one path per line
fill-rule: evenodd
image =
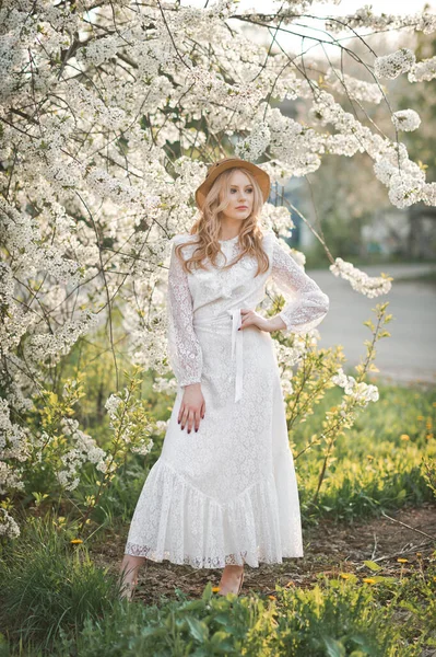
M 114 583 L 50 516 L 28 517 L 21 529 L 1 551 L 0 627 L 12 645 L 48 650 L 61 629 L 76 631 L 108 610 Z

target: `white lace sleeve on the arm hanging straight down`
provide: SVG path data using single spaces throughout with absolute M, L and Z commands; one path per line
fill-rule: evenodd
M 168 272 L 167 351 L 177 382 L 184 387 L 201 382 L 203 358 L 192 325 L 192 297 L 188 276 L 175 254 L 177 243 L 174 240 Z

